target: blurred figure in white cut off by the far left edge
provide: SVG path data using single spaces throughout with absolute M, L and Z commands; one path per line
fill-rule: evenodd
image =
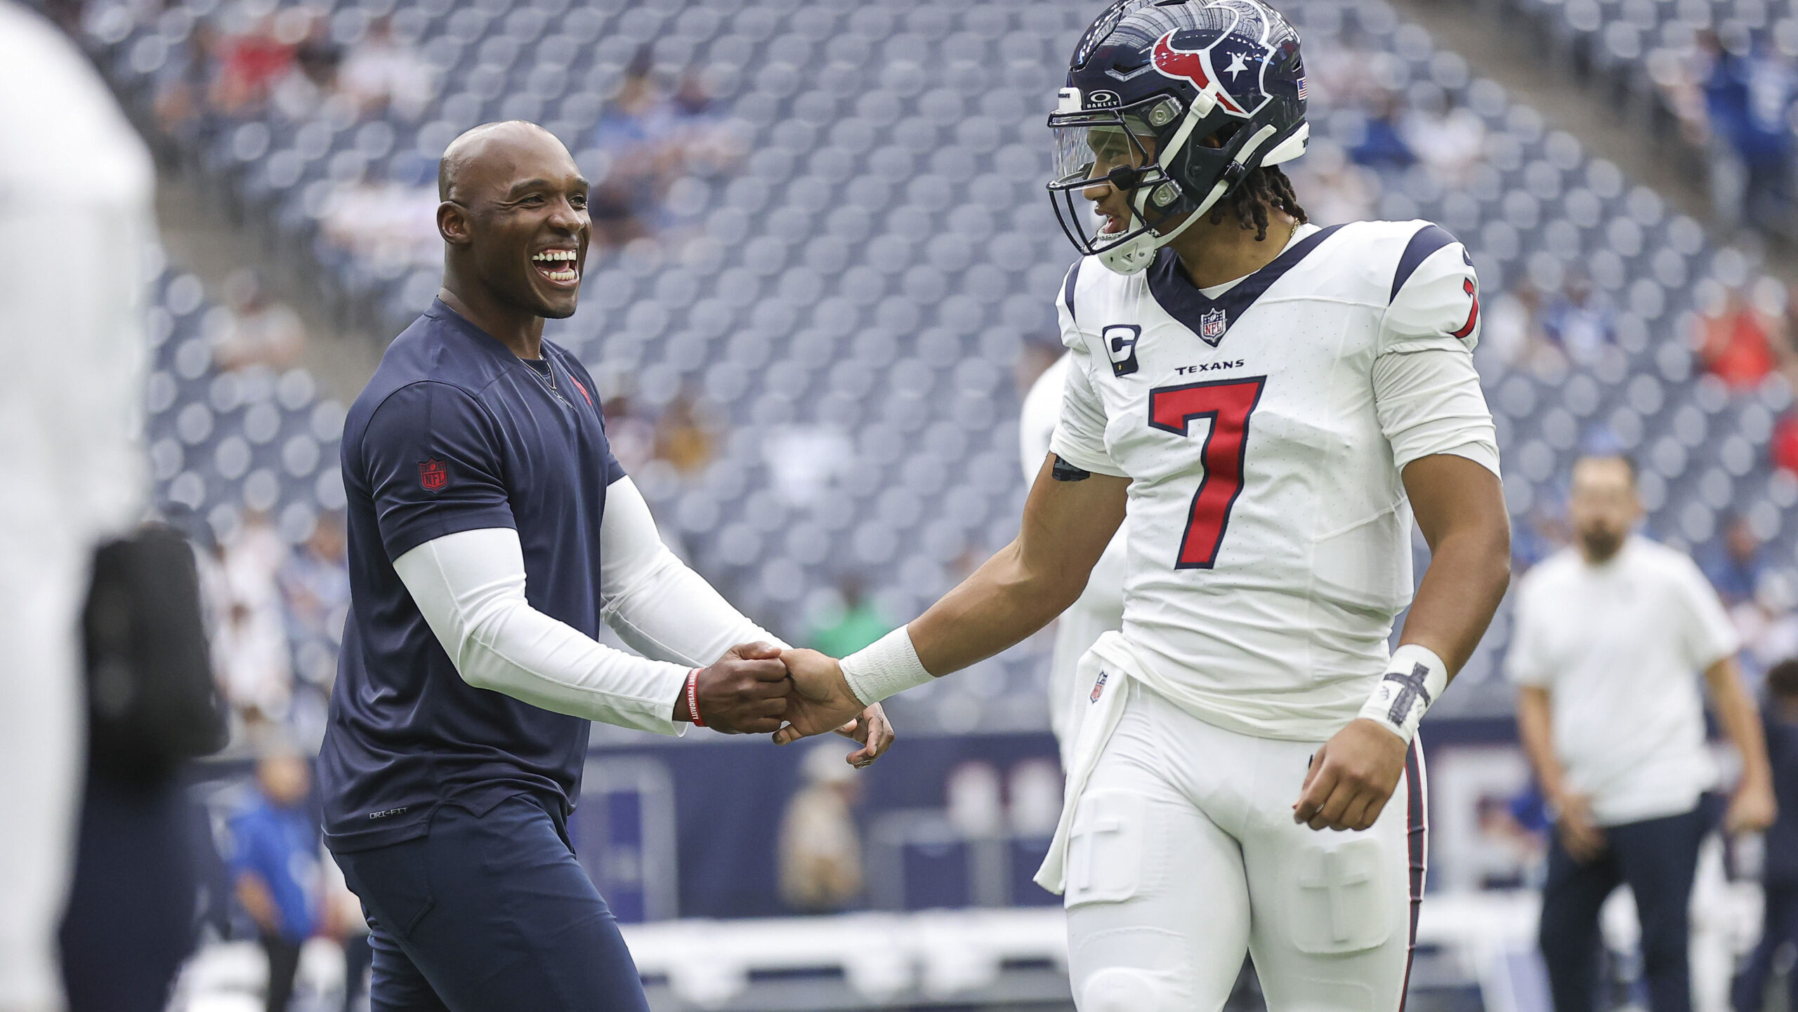
M 0 1012 L 49 1012 L 63 1008 L 88 566 L 144 509 L 155 176 L 81 52 L 11 0 L 0 137 Z

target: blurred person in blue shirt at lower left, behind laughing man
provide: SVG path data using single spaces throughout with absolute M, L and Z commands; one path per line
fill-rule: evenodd
M 268 1012 L 286 1012 L 300 947 L 322 926 L 318 827 L 306 811 L 311 771 L 291 750 L 270 748 L 255 764 L 255 793 L 230 818 L 230 870 L 237 902 L 255 920 L 268 953 Z

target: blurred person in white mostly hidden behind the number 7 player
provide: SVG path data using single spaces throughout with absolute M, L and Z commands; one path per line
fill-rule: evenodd
M 1068 365 L 1073 352 L 1063 354 L 1043 376 L 1036 377 L 1030 392 L 1023 397 L 1023 412 L 1018 421 L 1018 444 L 1023 451 L 1023 480 L 1036 482 L 1036 473 L 1048 457 L 1048 440 L 1055 435 L 1055 422 L 1061 421 L 1061 392 L 1068 385 Z M 1075 705 L 1086 694 L 1073 670 L 1081 656 L 1091 649 L 1100 635 L 1124 626 L 1124 530 L 1120 528 L 1106 554 L 1093 566 L 1093 575 L 1086 581 L 1086 590 L 1079 600 L 1068 606 L 1055 620 L 1055 649 L 1048 661 L 1048 730 L 1055 733 L 1061 746 L 1061 766 L 1066 769 L 1068 750 L 1073 746 Z

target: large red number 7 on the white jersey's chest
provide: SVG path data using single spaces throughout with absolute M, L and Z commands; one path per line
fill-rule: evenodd
M 1188 435 L 1197 419 L 1210 419 L 1199 460 L 1205 476 L 1192 493 L 1187 534 L 1179 539 L 1176 570 L 1208 570 L 1217 563 L 1217 546 L 1230 527 L 1230 507 L 1242 494 L 1242 469 L 1248 458 L 1248 417 L 1260 403 L 1266 376 L 1214 379 L 1149 390 L 1149 424 L 1174 435 Z

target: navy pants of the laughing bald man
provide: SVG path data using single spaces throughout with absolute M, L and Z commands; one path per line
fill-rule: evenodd
M 372 1012 L 649 1012 L 561 820 L 525 795 L 446 803 L 430 836 L 336 863 L 369 915 Z

